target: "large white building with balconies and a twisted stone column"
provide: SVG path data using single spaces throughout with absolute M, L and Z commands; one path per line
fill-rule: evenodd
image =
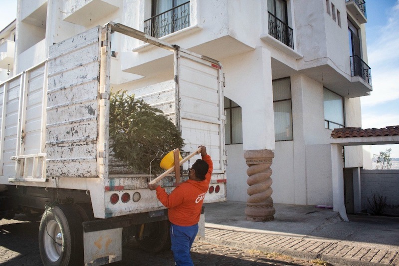
M 108 21 L 222 63 L 227 199 L 247 201 L 248 219 L 272 219 L 273 201 L 333 205 L 332 129 L 361 127 L 360 97 L 372 91 L 364 0 L 18 0 L 14 73 Z M 166 80 L 170 69 L 152 70 L 170 54 L 114 35 L 115 89 Z M 356 174 L 362 147 L 345 147 L 344 161 Z

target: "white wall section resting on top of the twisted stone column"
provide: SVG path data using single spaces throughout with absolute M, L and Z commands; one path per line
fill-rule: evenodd
M 222 61 L 226 73 L 224 95 L 242 108 L 244 150 L 275 149 L 270 60 L 270 52 L 257 47 Z

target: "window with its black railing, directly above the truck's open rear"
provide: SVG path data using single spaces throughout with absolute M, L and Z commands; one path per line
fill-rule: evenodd
M 190 1 L 152 0 L 151 18 L 144 21 L 144 32 L 160 38 L 190 26 Z

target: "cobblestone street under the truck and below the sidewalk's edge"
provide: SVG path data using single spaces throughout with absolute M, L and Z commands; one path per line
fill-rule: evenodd
M 15 220 L 0 221 L 0 265 L 41 266 L 38 238 L 38 218 L 27 220 L 17 215 Z M 257 266 L 297 265 L 311 266 L 312 262 L 277 254 L 266 254 L 254 250 L 241 250 L 197 241 L 193 245 L 192 258 L 196 266 Z M 171 251 L 160 254 L 145 253 L 131 241 L 123 248 L 123 261 L 112 266 L 173 266 Z

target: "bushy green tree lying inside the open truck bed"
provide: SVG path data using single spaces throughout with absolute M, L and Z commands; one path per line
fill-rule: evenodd
M 163 112 L 143 100 L 135 100 L 126 91 L 110 95 L 111 148 L 115 157 L 128 163 L 135 172 L 147 173 L 158 151 L 182 150 L 184 140 L 180 131 Z M 152 170 L 160 170 L 160 158 Z

